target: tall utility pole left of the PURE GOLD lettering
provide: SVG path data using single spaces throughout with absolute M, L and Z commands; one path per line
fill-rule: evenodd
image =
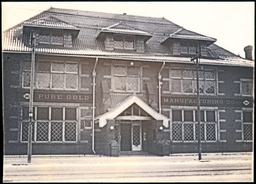
M 33 92 L 34 92 L 34 70 L 35 70 L 35 36 L 31 32 L 32 39 L 32 61 L 30 77 L 30 99 L 29 99 L 29 138 L 28 138 L 28 163 L 31 163 L 32 154 L 32 123 L 33 123 Z

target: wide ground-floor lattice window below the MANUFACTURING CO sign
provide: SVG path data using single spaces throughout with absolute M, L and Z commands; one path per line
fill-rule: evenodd
M 200 111 L 201 141 L 217 141 L 216 111 Z M 197 111 L 173 110 L 172 111 L 172 137 L 175 142 L 195 142 L 198 140 Z

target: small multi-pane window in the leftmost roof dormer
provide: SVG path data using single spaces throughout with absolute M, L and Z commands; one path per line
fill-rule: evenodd
M 38 36 L 39 44 L 63 45 L 63 31 L 41 29 Z

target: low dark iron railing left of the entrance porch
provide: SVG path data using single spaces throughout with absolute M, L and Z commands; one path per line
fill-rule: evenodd
M 109 156 L 110 143 L 32 143 L 32 157 L 55 156 Z M 4 157 L 27 157 L 28 143 L 7 143 L 4 145 Z

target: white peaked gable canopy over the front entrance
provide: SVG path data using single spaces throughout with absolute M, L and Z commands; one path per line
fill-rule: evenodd
M 103 127 L 106 125 L 108 119 L 115 119 L 119 114 L 121 114 L 124 110 L 132 106 L 132 104 L 136 103 L 142 110 L 144 110 L 147 114 L 152 116 L 156 120 L 162 120 L 163 125 L 165 127 L 169 126 L 168 118 L 162 114 L 159 114 L 154 109 L 152 109 L 146 102 L 144 102 L 141 98 L 139 98 L 135 93 L 131 96 L 128 96 L 122 102 L 117 104 L 117 106 L 111 111 L 97 116 L 95 121 L 99 121 L 99 127 Z M 135 119 L 136 120 L 136 119 Z

